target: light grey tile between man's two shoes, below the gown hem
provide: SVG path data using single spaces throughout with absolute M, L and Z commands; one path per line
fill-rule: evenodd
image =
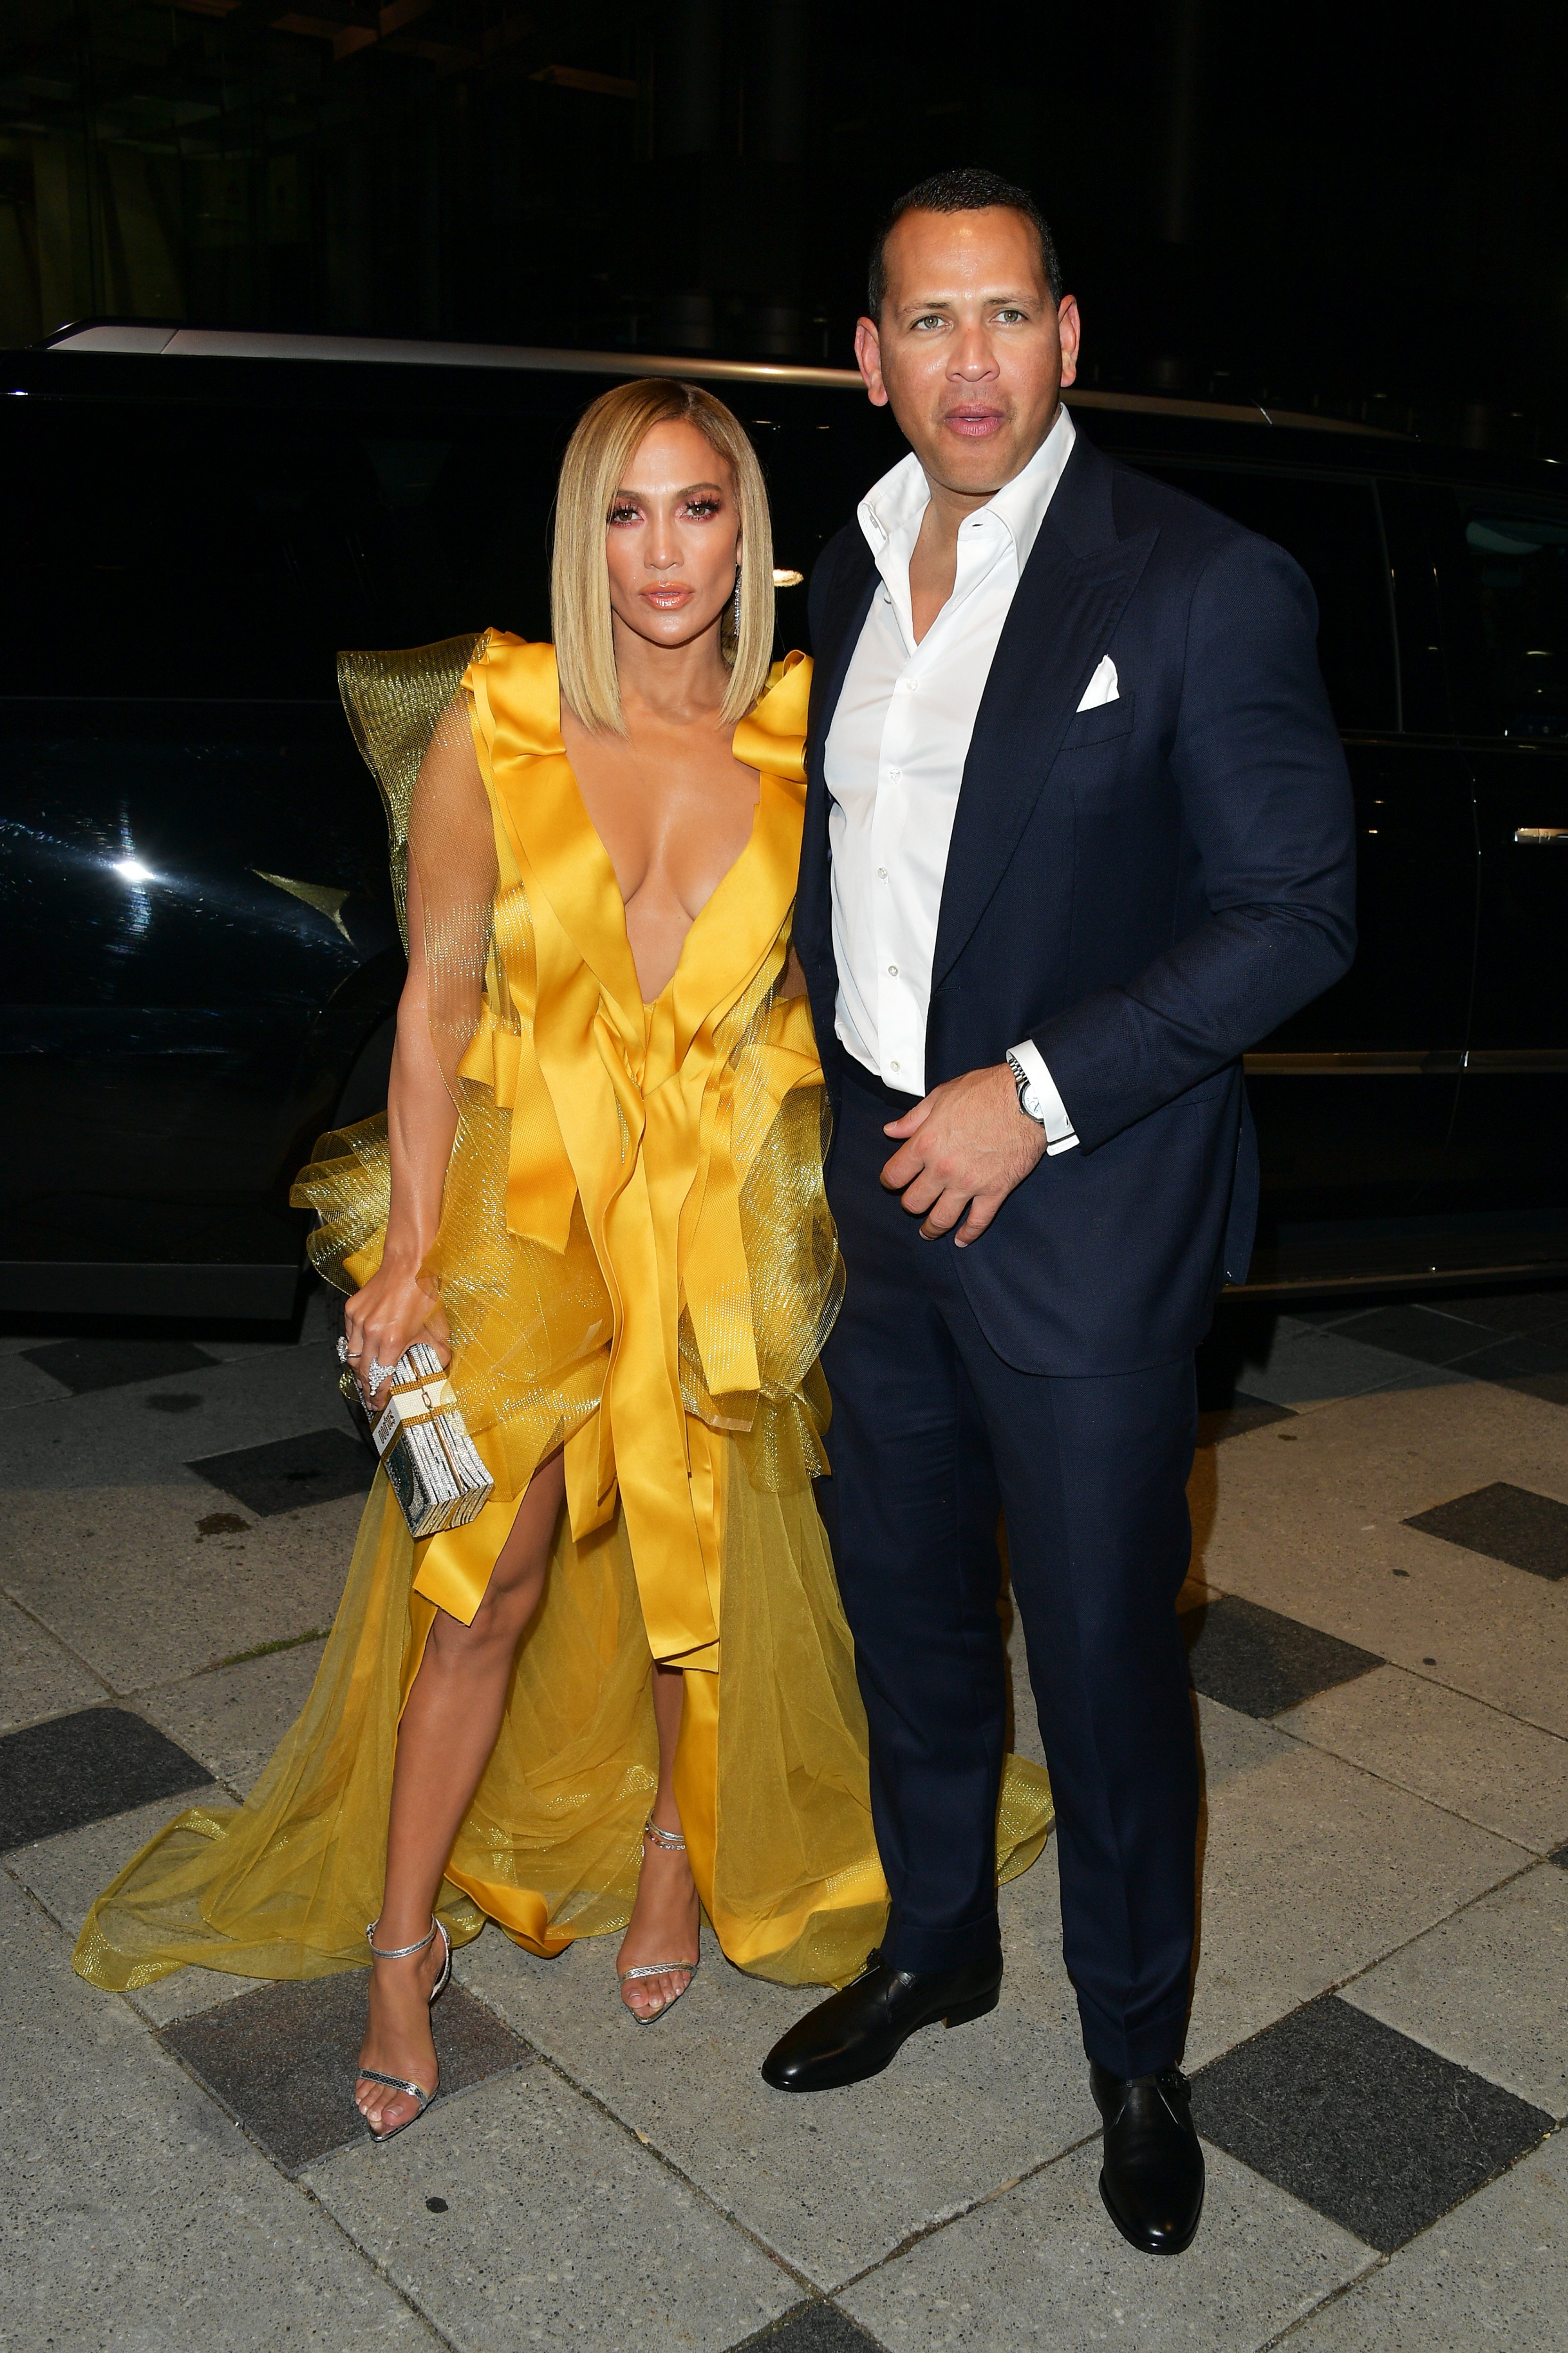
M 811 1991 L 741 1977 L 705 1937 L 691 1993 L 621 2014 L 614 1939 L 536 1962 L 494 1929 L 458 1972 L 536 2049 L 820 2287 L 1098 2129 L 1060 1958 L 1056 1854 L 1001 1889 L 1001 2007 L 905 2042 L 884 2075 L 790 2099 L 757 2073 Z

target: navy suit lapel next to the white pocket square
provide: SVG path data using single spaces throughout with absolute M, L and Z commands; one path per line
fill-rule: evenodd
M 936 925 L 940 988 L 1009 868 L 1154 532 L 1117 539 L 1112 468 L 1079 438 L 1025 565 L 969 739 Z

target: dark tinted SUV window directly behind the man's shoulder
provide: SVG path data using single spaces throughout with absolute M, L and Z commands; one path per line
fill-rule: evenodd
M 1347 729 L 1394 727 L 1394 612 L 1371 482 L 1135 464 L 1295 558 L 1316 593 L 1316 652 L 1333 715 Z

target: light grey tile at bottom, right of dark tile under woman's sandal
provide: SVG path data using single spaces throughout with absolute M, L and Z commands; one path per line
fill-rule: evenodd
M 458 2353 L 719 2353 L 799 2287 L 543 2066 L 437 2106 L 306 2181 Z M 425 2200 L 444 2198 L 430 2214 Z

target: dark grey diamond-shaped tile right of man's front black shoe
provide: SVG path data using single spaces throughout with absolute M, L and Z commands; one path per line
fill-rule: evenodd
M 1542 2108 L 1333 1993 L 1194 2075 L 1192 2120 L 1382 2254 L 1552 2132 Z

